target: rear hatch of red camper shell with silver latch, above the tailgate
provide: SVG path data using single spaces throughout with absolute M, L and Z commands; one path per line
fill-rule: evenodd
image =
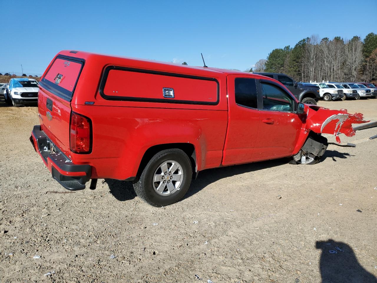
M 58 55 L 40 81 L 40 85 L 68 101 L 84 66 L 84 59 Z

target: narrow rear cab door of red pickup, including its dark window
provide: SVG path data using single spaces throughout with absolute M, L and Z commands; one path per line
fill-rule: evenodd
M 259 130 L 256 79 L 250 75 L 228 75 L 228 126 L 222 165 L 251 160 Z

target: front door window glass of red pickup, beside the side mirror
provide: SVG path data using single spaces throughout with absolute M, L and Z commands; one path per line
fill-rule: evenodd
M 283 112 L 294 111 L 294 99 L 281 88 L 261 83 L 263 109 Z

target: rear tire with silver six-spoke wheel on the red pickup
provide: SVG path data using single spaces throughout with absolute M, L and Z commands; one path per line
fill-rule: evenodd
M 176 166 L 178 168 L 175 169 Z M 171 170 L 174 170 L 172 175 Z M 170 181 L 169 178 L 172 179 L 173 176 L 180 181 Z M 133 183 L 133 188 L 146 203 L 161 207 L 181 200 L 189 189 L 191 180 L 192 165 L 189 157 L 181 149 L 173 148 L 156 153 Z

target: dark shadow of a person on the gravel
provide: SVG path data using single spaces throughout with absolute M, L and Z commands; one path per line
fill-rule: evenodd
M 377 283 L 377 278 L 360 265 L 346 243 L 329 239 L 317 241 L 316 248 L 322 251 L 319 262 L 322 283 Z

